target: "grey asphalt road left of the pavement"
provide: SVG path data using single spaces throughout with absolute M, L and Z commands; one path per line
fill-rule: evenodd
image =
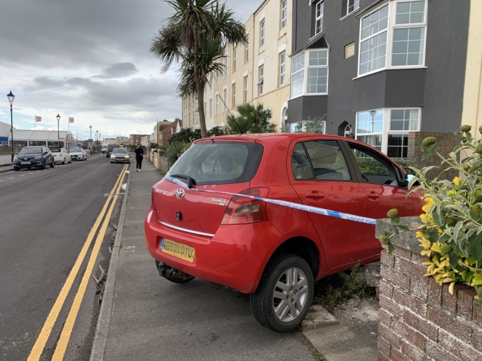
M 45 170 L 0 173 L 0 360 L 26 360 L 91 227 L 114 187 L 121 164 L 105 156 Z M 125 180 L 124 180 L 125 182 Z M 122 193 L 123 191 L 121 191 Z M 111 216 L 117 223 L 122 196 Z M 107 268 L 113 228 L 96 259 Z M 51 360 L 89 258 L 82 263 L 42 360 Z M 89 358 L 100 306 L 89 280 L 65 360 Z

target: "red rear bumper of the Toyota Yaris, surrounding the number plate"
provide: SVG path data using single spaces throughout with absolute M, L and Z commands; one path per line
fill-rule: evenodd
M 145 217 L 144 231 L 148 251 L 154 259 L 188 275 L 242 293 L 256 290 L 265 264 L 280 239 L 280 234 L 270 222 L 220 225 L 212 238 L 190 234 L 161 225 L 151 209 Z M 163 237 L 193 247 L 193 263 L 160 252 Z

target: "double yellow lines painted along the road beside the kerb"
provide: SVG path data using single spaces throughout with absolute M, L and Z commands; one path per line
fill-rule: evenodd
M 122 172 L 120 172 L 120 175 L 116 180 L 116 184 L 112 188 L 109 194 L 109 197 L 107 198 L 107 201 L 105 201 L 104 207 L 102 207 L 102 211 L 97 217 L 96 222 L 93 223 L 93 226 L 89 232 L 89 235 L 87 236 L 87 240 L 85 241 L 84 246 L 82 247 L 82 250 L 80 250 L 80 254 L 78 255 L 77 260 L 75 261 L 75 264 L 73 265 L 73 268 L 69 273 L 69 277 L 67 277 L 65 284 L 62 287 L 62 290 L 60 290 L 60 293 L 57 299 L 55 300 L 55 304 L 53 304 L 53 307 L 50 313 L 48 314 L 45 324 L 42 327 L 42 331 L 40 331 L 39 337 L 37 338 L 37 341 L 33 345 L 33 349 L 32 351 L 30 351 L 30 355 L 28 356 L 27 361 L 40 360 L 40 357 L 44 352 L 48 337 L 50 337 L 51 335 L 52 328 L 55 322 L 57 321 L 57 318 L 59 316 L 60 310 L 62 309 L 62 306 L 64 306 L 64 302 L 67 295 L 69 295 L 69 292 L 73 286 L 73 282 L 75 281 L 75 277 L 77 277 L 78 272 L 80 270 L 80 266 L 82 266 L 85 256 L 87 255 L 87 251 L 89 250 L 89 247 L 92 243 L 93 237 L 96 235 L 99 225 L 102 222 L 102 219 L 104 218 L 105 212 L 107 211 L 107 207 L 109 206 L 109 202 L 111 201 L 111 199 L 113 199 L 109 207 L 109 210 L 107 211 L 107 216 L 104 219 L 104 223 L 102 223 L 102 227 L 100 228 L 100 231 L 97 235 L 96 243 L 94 243 L 91 256 L 89 258 L 89 262 L 87 263 L 87 267 L 85 268 L 85 271 L 84 271 L 84 276 L 82 277 L 82 281 L 80 281 L 80 286 L 77 290 L 77 293 L 75 294 L 75 298 L 73 299 L 73 304 L 69 311 L 69 315 L 67 316 L 66 322 L 64 324 L 64 328 L 62 328 L 62 333 L 60 334 L 60 339 L 57 342 L 55 353 L 53 354 L 52 360 L 63 360 L 65 351 L 67 349 L 67 345 L 69 344 L 69 340 L 71 337 L 73 324 L 75 323 L 75 319 L 77 318 L 77 315 L 80 309 L 80 304 L 82 303 L 82 298 L 84 297 L 85 290 L 87 289 L 87 284 L 89 282 L 89 278 L 91 277 L 93 266 L 96 263 L 100 246 L 102 245 L 102 240 L 104 239 L 107 226 L 109 225 L 110 217 L 112 215 L 112 211 L 114 210 L 114 206 L 116 205 L 118 194 L 120 192 L 120 187 L 122 186 L 122 180 L 125 176 L 125 171 L 127 170 L 128 166 L 129 165 L 126 164 L 123 167 Z

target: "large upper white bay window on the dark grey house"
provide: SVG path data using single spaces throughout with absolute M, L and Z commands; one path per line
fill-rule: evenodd
M 427 0 L 394 0 L 360 22 L 358 75 L 425 64 Z

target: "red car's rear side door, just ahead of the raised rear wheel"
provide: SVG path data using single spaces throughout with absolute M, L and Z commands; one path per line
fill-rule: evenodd
M 289 179 L 304 205 L 366 216 L 367 198 L 336 140 L 294 142 Z M 362 259 L 365 223 L 308 212 L 319 234 L 328 268 Z M 296 221 L 296 220 L 294 220 Z

